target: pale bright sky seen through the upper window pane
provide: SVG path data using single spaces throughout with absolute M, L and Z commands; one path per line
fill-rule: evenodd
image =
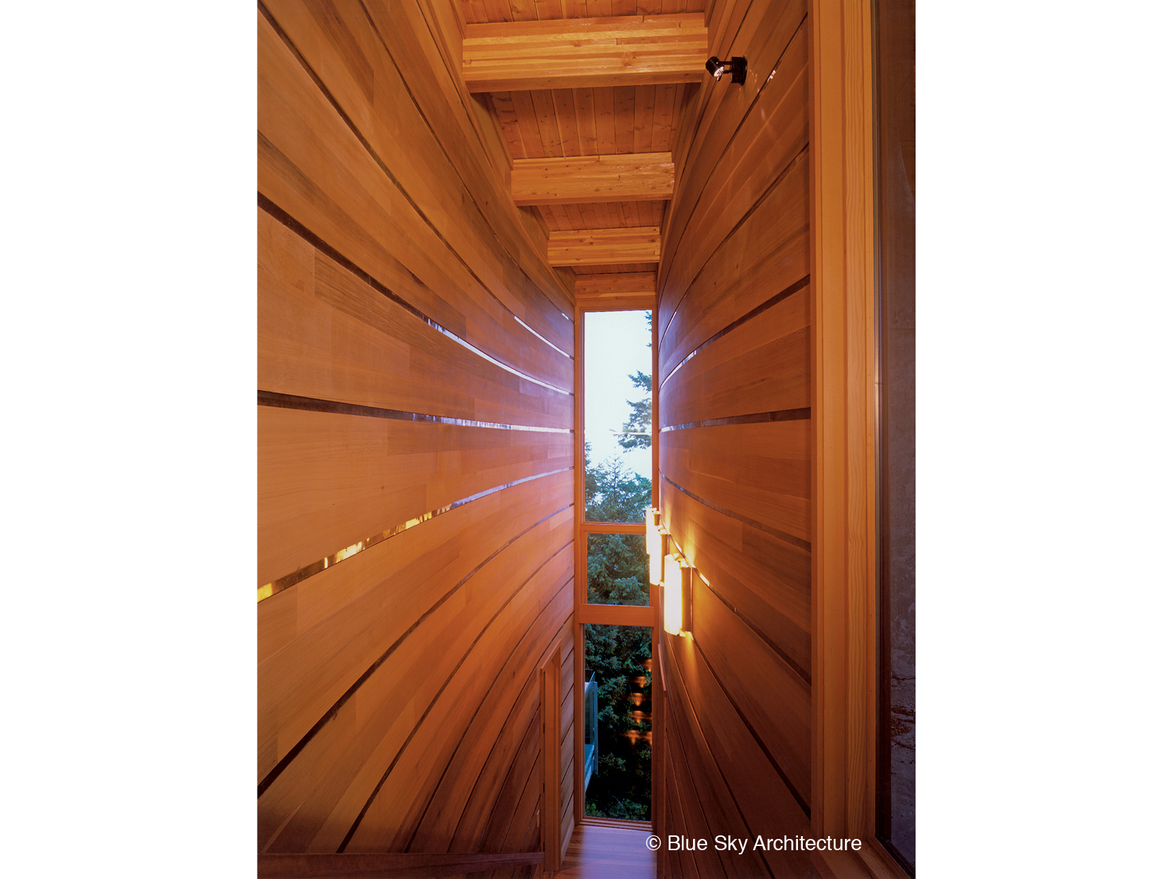
M 637 402 L 647 396 L 631 383 L 629 375 L 643 372 L 651 375 L 652 341 L 647 327 L 649 312 L 586 312 L 584 332 L 584 425 L 583 434 L 590 443 L 591 464 L 618 457 L 623 465 L 652 478 L 651 449 L 624 450 L 616 432 L 624 428 L 632 415 L 628 401 Z

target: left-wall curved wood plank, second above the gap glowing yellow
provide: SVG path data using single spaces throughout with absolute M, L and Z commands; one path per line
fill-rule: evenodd
M 570 395 L 436 332 L 265 211 L 257 211 L 257 222 L 259 388 L 472 421 L 572 427 Z M 518 350 L 513 362 L 556 387 L 572 381 L 572 361 L 547 345 Z

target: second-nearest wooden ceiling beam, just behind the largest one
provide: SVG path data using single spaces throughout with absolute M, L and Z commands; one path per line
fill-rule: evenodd
M 513 196 L 527 204 L 659 202 L 672 197 L 671 152 L 514 159 Z

